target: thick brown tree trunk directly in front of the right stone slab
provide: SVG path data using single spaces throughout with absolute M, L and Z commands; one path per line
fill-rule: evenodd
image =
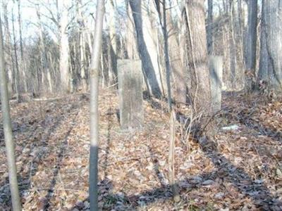
M 204 0 L 186 0 L 188 28 L 188 68 L 192 88 L 190 101 L 196 113 L 211 112 L 211 90 L 207 60 L 207 37 L 204 23 Z

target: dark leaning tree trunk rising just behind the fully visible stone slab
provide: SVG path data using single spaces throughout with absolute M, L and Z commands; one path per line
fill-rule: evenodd
M 130 0 L 129 4 L 133 12 L 133 20 L 135 23 L 135 31 L 137 36 L 137 48 L 142 60 L 142 70 L 145 75 L 145 80 L 147 80 L 147 83 L 149 84 L 149 92 L 156 97 L 161 97 L 161 89 L 159 89 L 159 83 L 154 72 L 152 60 L 149 56 L 149 52 L 143 37 L 141 1 Z

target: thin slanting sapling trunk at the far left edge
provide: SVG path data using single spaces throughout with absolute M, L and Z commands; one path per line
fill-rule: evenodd
M 13 142 L 10 106 L 8 103 L 8 89 L 5 73 L 5 61 L 4 61 L 4 42 L 1 26 L 1 14 L 0 14 L 0 88 L 1 88 L 1 111 L 4 127 L 4 139 L 6 145 L 6 154 L 8 161 L 8 177 L 11 189 L 13 210 L 20 211 L 20 194 L 18 191 L 18 179 L 17 168 L 15 158 L 15 144 Z

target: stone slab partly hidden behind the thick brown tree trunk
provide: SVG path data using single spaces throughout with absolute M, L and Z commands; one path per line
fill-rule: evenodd
M 222 56 L 209 57 L 209 75 L 212 92 L 212 110 L 214 113 L 221 110 L 221 87 L 222 87 Z

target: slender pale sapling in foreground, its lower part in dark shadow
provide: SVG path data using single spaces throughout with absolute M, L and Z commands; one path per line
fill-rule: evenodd
M 90 210 L 98 211 L 98 146 L 99 146 L 99 59 L 102 46 L 104 0 L 97 1 L 96 23 L 90 67 Z

